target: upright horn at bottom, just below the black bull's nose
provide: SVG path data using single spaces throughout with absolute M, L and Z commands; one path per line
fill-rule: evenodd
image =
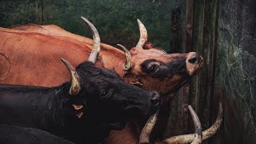
M 154 128 L 155 122 L 157 122 L 157 119 L 158 119 L 158 111 L 153 115 L 151 115 L 150 118 L 147 120 L 139 136 L 139 143 L 150 143 L 150 134 Z

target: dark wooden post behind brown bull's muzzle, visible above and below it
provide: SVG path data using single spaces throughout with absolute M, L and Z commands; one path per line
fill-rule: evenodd
M 177 16 L 181 11 L 181 20 L 177 22 Z M 192 26 L 193 26 L 194 0 L 187 0 L 182 7 L 172 10 L 172 32 L 173 39 L 170 41 L 170 52 L 184 53 L 192 50 Z M 178 29 L 179 28 L 179 29 Z M 180 34 L 180 35 L 179 35 Z M 175 42 L 175 40 L 177 42 Z M 181 40 L 182 39 L 182 40 Z M 182 42 L 183 41 L 183 42 Z M 190 85 L 183 86 L 170 102 L 170 118 L 165 133 L 165 138 L 170 135 L 186 134 L 188 123 Z

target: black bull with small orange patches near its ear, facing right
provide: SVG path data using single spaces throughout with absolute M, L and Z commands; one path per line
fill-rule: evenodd
M 76 71 L 81 87 L 78 94 L 70 94 L 73 80 L 52 88 L 1 85 L 0 123 L 46 130 L 75 143 L 92 143 L 110 130 L 122 129 L 124 122 L 158 110 L 158 93 L 123 82 L 111 70 L 82 62 Z

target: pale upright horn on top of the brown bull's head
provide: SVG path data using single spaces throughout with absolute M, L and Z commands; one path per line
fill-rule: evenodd
M 139 28 L 139 40 L 138 43 L 136 45 L 137 48 L 142 48 L 145 45 L 146 41 L 147 41 L 147 32 L 146 32 L 146 27 L 143 25 L 143 23 L 137 19 L 138 22 L 138 28 Z

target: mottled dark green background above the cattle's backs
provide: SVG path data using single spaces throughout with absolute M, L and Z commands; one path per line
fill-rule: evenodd
M 170 11 L 175 3 L 167 0 L 6 0 L 0 1 L 0 26 L 42 22 L 91 37 L 80 19 L 83 16 L 97 27 L 102 42 L 132 47 L 138 42 L 136 19 L 139 18 L 148 30 L 149 41 L 169 50 Z

